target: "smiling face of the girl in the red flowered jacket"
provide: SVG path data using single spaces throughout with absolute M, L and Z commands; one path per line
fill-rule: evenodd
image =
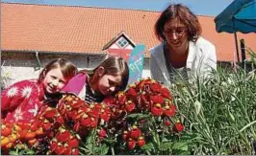
M 50 70 L 42 81 L 44 90 L 48 94 L 60 92 L 66 82 L 67 80 L 64 78 L 60 68 Z

